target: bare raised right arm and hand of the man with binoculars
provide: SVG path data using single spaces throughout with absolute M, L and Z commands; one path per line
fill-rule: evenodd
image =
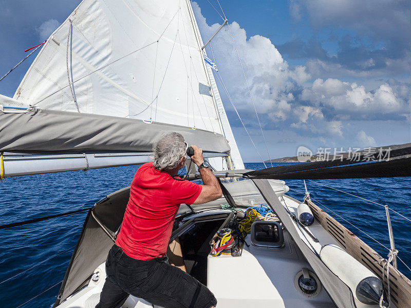
M 197 166 L 200 166 L 204 162 L 202 150 L 195 145 L 192 145 L 192 147 L 194 149 L 194 155 L 191 157 L 191 160 Z M 213 171 L 209 168 L 201 168 L 200 175 L 204 185 L 201 185 L 200 195 L 193 204 L 202 204 L 220 198 L 222 196 L 221 187 Z

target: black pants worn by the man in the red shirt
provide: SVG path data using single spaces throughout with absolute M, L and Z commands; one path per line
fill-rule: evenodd
M 137 260 L 120 247 L 111 247 L 106 261 L 106 281 L 96 308 L 118 308 L 128 295 L 164 308 L 210 308 L 217 304 L 213 293 L 167 257 Z

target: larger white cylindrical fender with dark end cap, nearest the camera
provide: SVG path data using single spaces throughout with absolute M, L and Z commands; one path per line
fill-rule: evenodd
M 320 258 L 360 302 L 378 303 L 382 294 L 381 280 L 344 249 L 333 244 L 325 245 L 321 248 Z

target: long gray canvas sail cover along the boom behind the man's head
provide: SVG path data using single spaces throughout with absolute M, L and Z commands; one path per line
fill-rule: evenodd
M 71 111 L 0 111 L 0 151 L 18 153 L 150 152 L 162 133 L 181 133 L 207 152 L 229 153 L 221 134 L 164 123 Z

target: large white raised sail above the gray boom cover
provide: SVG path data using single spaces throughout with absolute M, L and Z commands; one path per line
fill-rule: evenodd
M 244 168 L 200 45 L 187 0 L 84 0 L 48 38 L 13 98 L 220 133 L 235 168 Z

